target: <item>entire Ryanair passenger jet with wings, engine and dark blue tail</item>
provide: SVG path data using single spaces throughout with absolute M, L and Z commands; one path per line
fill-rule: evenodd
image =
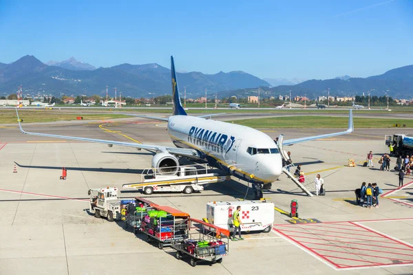
M 213 114 L 198 117 L 187 115 L 180 102 L 173 56 L 171 56 L 171 76 L 173 115 L 169 118 L 135 116 L 167 122 L 167 131 L 176 147 L 26 132 L 21 128 L 19 113 L 16 109 L 20 131 L 27 135 L 98 142 L 109 144 L 109 146 L 129 146 L 155 151 L 156 155 L 153 156 L 151 165 L 153 168 L 157 168 L 160 173 L 175 173 L 174 169 L 178 170 L 178 168 L 174 167 L 180 165 L 178 157 L 187 157 L 194 162 L 206 162 L 210 166 L 219 168 L 239 179 L 249 181 L 255 184 L 257 188 L 261 188 L 264 184 L 271 184 L 282 174 L 282 155 L 280 151 L 284 152 L 282 150 L 283 145 L 293 145 L 320 138 L 344 135 L 353 131 L 352 110 L 350 110 L 346 131 L 292 140 L 284 140 L 284 135 L 279 135 L 277 145 L 271 137 L 261 131 L 247 126 L 206 119 Z

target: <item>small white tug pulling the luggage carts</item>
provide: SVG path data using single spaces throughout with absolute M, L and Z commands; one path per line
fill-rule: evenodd
M 120 219 L 120 199 L 118 199 L 118 188 L 96 188 L 89 189 L 89 213 L 94 217 L 107 217 L 107 221 Z

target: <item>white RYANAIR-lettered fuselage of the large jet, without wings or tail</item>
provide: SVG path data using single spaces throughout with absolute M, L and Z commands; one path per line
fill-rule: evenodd
M 173 115 L 168 133 L 177 147 L 199 151 L 211 166 L 240 179 L 270 183 L 282 173 L 282 158 L 273 139 L 250 127 Z

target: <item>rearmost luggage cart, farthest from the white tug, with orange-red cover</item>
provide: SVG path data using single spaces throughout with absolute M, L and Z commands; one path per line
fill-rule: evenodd
M 189 225 L 188 238 L 171 244 L 176 250 L 176 259 L 189 256 L 193 267 L 199 261 L 222 263 L 222 258 L 229 253 L 229 230 L 197 219 L 189 219 Z

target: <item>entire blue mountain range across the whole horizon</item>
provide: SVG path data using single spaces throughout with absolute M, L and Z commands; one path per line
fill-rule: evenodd
M 169 94 L 171 92 L 171 71 L 156 63 L 144 65 L 121 64 L 114 67 L 93 69 L 92 65 L 70 58 L 67 61 L 52 62 L 46 65 L 34 56 L 23 56 L 10 64 L 0 63 L 0 95 L 12 94 L 17 86 L 23 85 L 24 94 L 39 93 L 59 95 L 99 94 L 105 96 L 106 85 L 109 93 L 113 94 L 114 87 L 122 92 L 123 96 L 134 98 L 152 97 Z M 271 78 L 267 80 L 283 80 Z M 202 74 L 201 72 L 178 73 L 180 90 L 187 89 L 187 98 L 204 96 L 207 89 L 209 97 L 215 92 L 218 96 L 241 96 L 257 94 L 257 87 L 262 87 L 262 97 L 288 95 L 316 98 L 327 96 L 354 96 L 367 94 L 383 96 L 387 91 L 393 98 L 411 98 L 413 94 L 413 65 L 391 69 L 379 76 L 368 78 L 351 78 L 339 76 L 327 80 L 306 80 L 297 84 L 286 82 L 284 85 L 271 87 L 266 80 L 234 71 L 229 73 Z M 271 82 L 270 81 L 270 82 Z M 275 83 L 273 83 L 275 84 Z M 287 85 L 288 84 L 288 85 Z

